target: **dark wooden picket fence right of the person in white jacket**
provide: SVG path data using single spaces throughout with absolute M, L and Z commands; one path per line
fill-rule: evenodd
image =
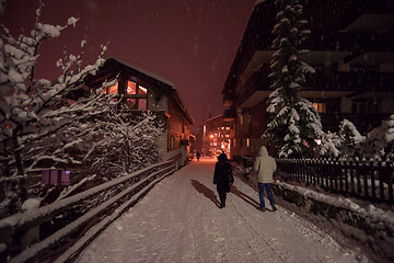
M 329 159 L 277 159 L 285 180 L 320 185 L 333 193 L 393 205 L 394 164 Z

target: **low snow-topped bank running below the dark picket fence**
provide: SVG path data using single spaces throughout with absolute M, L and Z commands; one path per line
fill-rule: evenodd
M 362 244 L 376 261 L 394 260 L 394 213 L 371 204 L 362 207 L 350 198 L 329 196 L 280 181 L 276 181 L 273 188 L 283 201 L 297 205 L 296 213 Z

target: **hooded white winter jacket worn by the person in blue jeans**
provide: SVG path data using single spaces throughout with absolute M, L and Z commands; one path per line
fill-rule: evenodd
M 267 148 L 262 146 L 254 163 L 254 170 L 257 171 L 257 181 L 259 183 L 273 183 L 273 174 L 276 171 L 276 161 L 268 156 Z

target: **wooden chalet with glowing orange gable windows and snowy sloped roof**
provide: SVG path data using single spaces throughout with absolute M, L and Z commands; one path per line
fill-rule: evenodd
M 116 84 L 104 93 L 115 94 L 127 106 L 128 114 L 138 115 L 142 111 L 155 113 L 164 122 L 164 130 L 157 145 L 162 159 L 179 158 L 184 165 L 189 157 L 190 125 L 195 122 L 188 114 L 174 84 L 152 72 L 117 58 L 107 59 L 95 76 L 89 76 L 85 90 L 101 88 L 104 80 L 117 79 Z

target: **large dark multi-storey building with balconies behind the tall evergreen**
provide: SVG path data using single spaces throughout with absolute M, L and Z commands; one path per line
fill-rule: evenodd
M 301 96 L 316 107 L 323 130 L 347 118 L 366 135 L 394 113 L 394 1 L 301 1 L 310 36 L 301 59 L 315 69 Z M 231 158 L 254 158 L 269 117 L 275 0 L 256 2 L 222 88 L 231 122 Z M 317 139 L 317 138 L 316 138 Z M 275 155 L 275 146 L 269 146 Z

